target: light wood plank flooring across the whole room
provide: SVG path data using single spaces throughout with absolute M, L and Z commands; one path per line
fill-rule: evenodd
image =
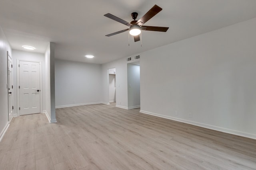
M 111 105 L 14 117 L 0 170 L 256 169 L 256 140 Z

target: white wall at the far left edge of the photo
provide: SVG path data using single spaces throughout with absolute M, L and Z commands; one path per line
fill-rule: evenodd
M 12 50 L 0 27 L 0 141 L 8 127 L 7 51 Z

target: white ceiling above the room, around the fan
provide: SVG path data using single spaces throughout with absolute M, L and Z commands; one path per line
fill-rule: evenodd
M 134 42 L 128 28 L 104 17 L 110 13 L 125 21 L 138 12 L 141 18 L 154 4 L 163 10 L 145 25 L 170 27 L 166 33 L 142 31 Z M 58 59 L 107 63 L 256 17 L 256 0 L 1 0 L 0 26 L 12 49 L 22 45 L 44 53 L 56 43 Z M 84 55 L 94 55 L 86 59 Z

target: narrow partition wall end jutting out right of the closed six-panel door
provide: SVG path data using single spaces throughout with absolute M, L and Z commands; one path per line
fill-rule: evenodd
M 44 96 L 45 96 L 45 111 L 51 123 L 56 122 L 55 115 L 55 64 L 54 64 L 54 47 L 55 44 L 50 42 L 45 56 L 45 81 L 44 81 Z

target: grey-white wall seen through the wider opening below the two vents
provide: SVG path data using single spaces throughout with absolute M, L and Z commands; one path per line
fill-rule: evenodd
M 128 109 L 140 107 L 140 65 L 127 64 Z

